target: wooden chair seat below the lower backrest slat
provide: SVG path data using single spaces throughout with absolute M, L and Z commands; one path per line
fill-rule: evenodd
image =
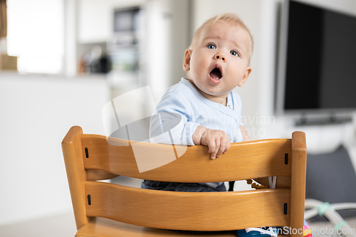
M 76 237 L 148 237 L 148 236 L 214 236 L 214 237 L 236 237 L 236 231 L 216 231 L 193 233 L 190 231 L 170 231 L 159 228 L 148 228 L 144 226 L 135 226 L 118 221 L 112 221 L 108 218 L 95 217 L 89 223 L 85 224 L 75 234 Z

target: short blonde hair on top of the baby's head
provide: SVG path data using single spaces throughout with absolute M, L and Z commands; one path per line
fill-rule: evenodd
M 214 17 L 211 17 L 211 19 L 205 21 L 198 29 L 197 31 L 195 31 L 194 36 L 193 36 L 193 40 L 192 43 L 189 46 L 189 49 L 193 49 L 195 44 L 198 41 L 199 36 L 201 35 L 201 31 L 203 31 L 203 29 L 206 26 L 212 26 L 214 25 L 214 23 L 216 23 L 217 21 L 221 21 L 227 24 L 233 24 L 235 26 L 242 26 L 244 29 L 246 29 L 246 31 L 248 32 L 248 35 L 251 38 L 251 54 L 253 52 L 253 37 L 251 35 L 250 30 L 246 27 L 244 21 L 242 21 L 239 16 L 237 16 L 236 14 L 232 14 L 232 13 L 225 13 L 225 14 L 220 14 Z M 251 55 L 250 55 L 251 58 Z

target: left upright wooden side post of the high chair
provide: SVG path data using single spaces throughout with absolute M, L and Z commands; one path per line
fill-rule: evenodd
M 87 175 L 83 164 L 81 127 L 74 126 L 68 131 L 62 141 L 64 162 L 66 164 L 70 196 L 77 229 L 88 223 L 91 218 L 85 213 L 85 186 Z

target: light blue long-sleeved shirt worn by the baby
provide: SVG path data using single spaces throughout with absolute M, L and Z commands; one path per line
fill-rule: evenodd
M 242 142 L 241 98 L 233 90 L 226 106 L 206 99 L 189 80 L 182 80 L 164 93 L 150 122 L 153 143 L 194 145 L 193 134 L 201 125 L 222 130 L 231 142 Z M 222 182 L 201 183 L 216 188 Z

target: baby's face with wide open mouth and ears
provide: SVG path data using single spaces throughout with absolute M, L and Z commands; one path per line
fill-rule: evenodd
M 192 51 L 184 56 L 189 80 L 206 98 L 226 98 L 251 73 L 251 38 L 245 28 L 217 21 L 201 31 Z

